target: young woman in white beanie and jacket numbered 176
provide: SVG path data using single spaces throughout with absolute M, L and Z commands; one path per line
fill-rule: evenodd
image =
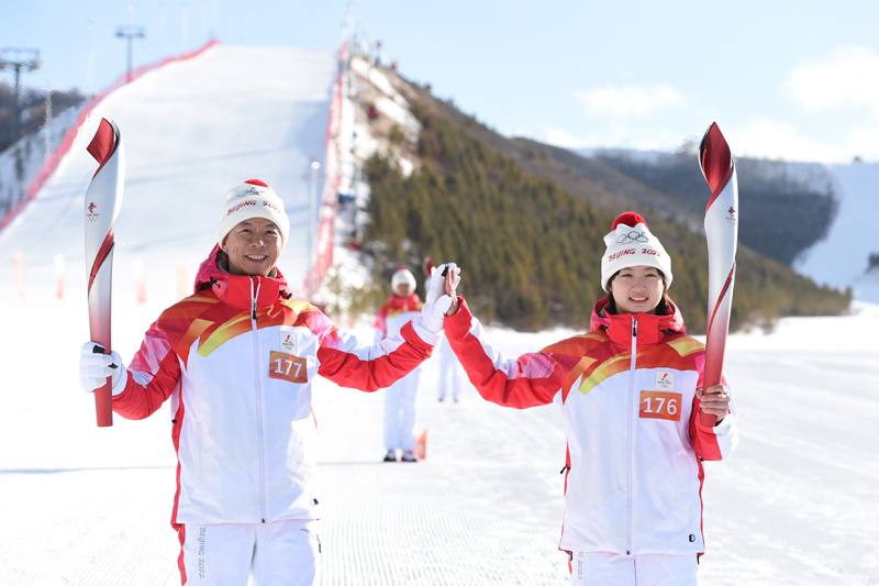
M 735 450 L 735 403 L 725 379 L 703 389 L 704 345 L 668 296 L 671 261 L 646 221 L 621 214 L 604 243 L 608 295 L 588 333 L 508 361 L 460 297 L 445 334 L 485 399 L 561 409 L 571 584 L 691 586 L 705 551 L 702 461 Z

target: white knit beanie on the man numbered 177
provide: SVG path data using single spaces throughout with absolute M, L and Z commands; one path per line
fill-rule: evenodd
M 233 228 L 251 218 L 265 218 L 275 222 L 281 233 L 281 250 L 287 246 L 290 233 L 290 219 L 283 211 L 283 201 L 259 179 L 247 179 L 226 192 L 226 201 L 216 228 L 216 242 L 223 244 Z

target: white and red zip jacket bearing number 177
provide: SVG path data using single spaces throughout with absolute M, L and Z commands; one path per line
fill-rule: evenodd
M 311 382 L 390 386 L 431 355 L 413 324 L 367 345 L 276 278 L 233 276 L 202 263 L 196 294 L 146 332 L 113 410 L 143 419 L 171 399 L 177 494 L 171 523 L 318 519 Z M 438 339 L 438 336 L 437 336 Z

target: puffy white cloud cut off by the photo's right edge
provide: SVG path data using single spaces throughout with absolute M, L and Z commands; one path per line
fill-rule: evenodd
M 879 115 L 879 55 L 870 48 L 837 47 L 823 62 L 793 70 L 786 85 L 806 111 L 867 106 Z

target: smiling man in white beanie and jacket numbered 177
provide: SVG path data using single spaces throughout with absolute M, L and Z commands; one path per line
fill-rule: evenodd
M 431 355 L 453 300 L 437 302 L 438 279 L 397 335 L 359 343 L 287 292 L 277 264 L 290 221 L 272 189 L 251 179 L 218 211 L 194 294 L 159 316 L 127 368 L 118 353 L 84 344 L 80 382 L 93 391 L 112 377 L 113 410 L 126 419 L 170 399 L 183 584 L 319 584 L 312 382 L 393 384 Z

